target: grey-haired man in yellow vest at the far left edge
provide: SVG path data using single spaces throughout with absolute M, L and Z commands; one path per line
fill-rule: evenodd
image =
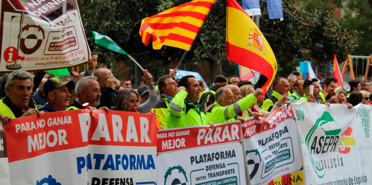
M 6 96 L 0 100 L 0 121 L 6 124 L 10 119 L 24 116 L 38 115 L 41 113 L 29 108 L 28 104 L 32 95 L 33 78 L 27 71 L 14 71 L 7 78 Z

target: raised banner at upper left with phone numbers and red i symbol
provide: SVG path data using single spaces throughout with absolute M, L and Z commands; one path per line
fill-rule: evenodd
M 0 72 L 67 68 L 90 60 L 76 0 L 2 0 Z

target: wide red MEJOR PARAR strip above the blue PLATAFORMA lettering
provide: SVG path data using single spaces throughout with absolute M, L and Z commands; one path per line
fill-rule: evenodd
M 88 145 L 154 147 L 153 115 L 70 110 L 12 119 L 4 126 L 9 162 Z

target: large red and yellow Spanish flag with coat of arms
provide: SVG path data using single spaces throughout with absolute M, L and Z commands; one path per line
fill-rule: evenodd
M 277 71 L 274 53 L 260 29 L 237 1 L 227 0 L 226 5 L 226 57 L 267 77 L 269 80 L 262 87 L 266 93 Z

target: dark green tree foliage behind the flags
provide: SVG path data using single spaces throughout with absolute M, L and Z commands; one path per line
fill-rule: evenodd
M 182 49 L 164 46 L 152 49 L 151 42 L 145 46 L 138 34 L 141 20 L 186 3 L 189 0 L 77 0 L 85 33 L 93 54 L 99 55 L 99 62 L 114 66 L 117 74 L 134 69 L 134 64 L 119 53 L 109 51 L 94 44 L 92 30 L 107 35 L 124 51 L 150 69 L 155 76 L 167 74 L 166 65 L 179 61 Z M 320 0 L 319 0 L 320 1 Z M 241 1 L 238 1 L 241 4 Z M 319 2 L 314 2 L 315 5 Z M 268 40 L 278 61 L 278 75 L 286 76 L 298 66 L 299 60 L 327 62 L 335 53 L 339 61 L 356 48 L 356 31 L 346 29 L 327 6 L 324 9 L 303 8 L 297 0 L 284 0 L 284 20 L 269 20 L 266 1 L 261 0 L 262 17 L 260 30 Z M 312 6 L 315 6 L 312 5 Z M 310 5 L 309 5 L 310 6 Z M 308 6 L 306 6 L 307 8 Z M 350 25 L 350 27 L 352 27 Z M 196 65 L 208 62 L 209 78 L 217 74 L 227 75 L 225 58 L 226 1 L 217 0 L 199 31 L 185 61 Z M 371 35 L 370 35 L 371 36 Z M 120 69 L 115 64 L 125 61 L 131 69 Z M 237 65 L 229 64 L 229 75 L 238 74 Z M 208 79 L 205 79 L 208 81 Z

